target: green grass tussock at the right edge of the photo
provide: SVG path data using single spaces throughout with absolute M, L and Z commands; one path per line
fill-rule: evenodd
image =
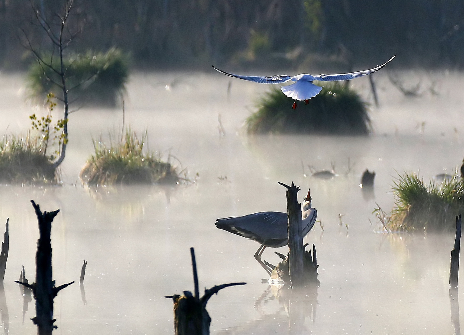
M 406 173 L 394 183 L 393 194 L 395 208 L 390 215 L 375 210 L 388 231 L 453 230 L 455 216 L 464 213 L 464 180 L 457 175 L 426 184 L 416 174 Z

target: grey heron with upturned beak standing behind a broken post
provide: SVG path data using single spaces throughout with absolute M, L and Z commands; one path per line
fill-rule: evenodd
M 311 196 L 304 198 L 302 214 L 302 232 L 306 236 L 316 222 L 317 210 L 311 208 Z M 255 259 L 264 270 L 269 269 L 261 260 L 261 255 L 266 247 L 278 248 L 288 244 L 288 216 L 282 212 L 259 212 L 244 216 L 231 216 L 217 219 L 215 223 L 219 229 L 246 237 L 261 244 L 255 253 Z

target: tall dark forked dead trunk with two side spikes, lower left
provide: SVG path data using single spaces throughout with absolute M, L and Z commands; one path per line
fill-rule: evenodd
M 31 200 L 32 206 L 35 209 L 35 214 L 39 221 L 39 240 L 37 240 L 37 253 L 35 255 L 36 272 L 35 283 L 28 284 L 16 281 L 30 289 L 34 293 L 35 313 L 36 316 L 32 322 L 38 327 L 39 335 L 51 335 L 53 329 L 57 326 L 53 325 L 56 319 L 53 317 L 53 299 L 58 292 L 74 282 L 55 286 L 55 281 L 52 279 L 52 240 L 51 230 L 52 221 L 58 214 L 59 209 L 53 212 L 41 212 L 39 205 Z

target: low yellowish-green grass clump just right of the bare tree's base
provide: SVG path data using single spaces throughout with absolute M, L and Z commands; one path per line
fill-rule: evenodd
M 110 146 L 99 142 L 79 174 L 89 185 L 132 183 L 177 183 L 176 169 L 161 161 L 161 155 L 144 150 L 147 135 L 138 138 L 128 130 L 121 143 Z

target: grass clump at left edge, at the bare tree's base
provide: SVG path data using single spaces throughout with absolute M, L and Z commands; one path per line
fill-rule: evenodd
M 4 137 L 0 141 L 0 183 L 56 183 L 52 159 L 38 137 Z

